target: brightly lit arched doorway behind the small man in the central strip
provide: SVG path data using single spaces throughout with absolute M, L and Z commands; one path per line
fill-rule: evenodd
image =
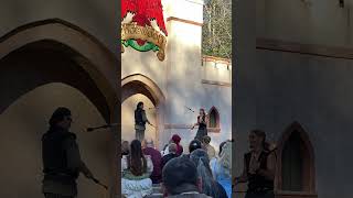
M 133 111 L 138 101 L 143 101 L 147 117 L 157 129 L 147 128 L 146 138 L 154 140 L 159 147 L 160 140 L 163 139 L 164 130 L 163 112 L 165 98 L 160 88 L 148 77 L 135 74 L 121 80 L 121 139 L 131 141 L 135 139 Z

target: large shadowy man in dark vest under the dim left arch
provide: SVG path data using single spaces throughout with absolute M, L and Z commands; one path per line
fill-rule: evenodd
M 75 133 L 68 131 L 71 123 L 69 109 L 57 108 L 50 119 L 49 131 L 42 136 L 42 191 L 45 198 L 76 197 L 79 173 L 94 179 L 81 158 Z

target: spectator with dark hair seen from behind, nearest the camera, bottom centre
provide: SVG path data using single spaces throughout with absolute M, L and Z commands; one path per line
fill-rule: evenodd
M 202 182 L 195 164 L 185 156 L 170 160 L 162 170 L 163 196 L 168 198 L 211 198 L 201 194 Z

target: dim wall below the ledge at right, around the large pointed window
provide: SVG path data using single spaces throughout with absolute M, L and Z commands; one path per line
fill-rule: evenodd
M 266 51 L 256 55 L 257 127 L 277 141 L 293 121 L 302 124 L 314 147 L 319 196 L 351 197 L 353 172 L 346 167 L 353 161 L 344 152 L 353 148 L 353 62 Z

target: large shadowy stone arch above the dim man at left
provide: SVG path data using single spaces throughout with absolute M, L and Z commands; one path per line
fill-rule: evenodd
M 116 86 L 119 74 L 118 63 L 118 58 L 105 48 L 99 41 L 65 21 L 53 19 L 20 26 L 0 37 L 0 91 L 6 92 L 6 95 L 0 96 L 0 118 L 7 120 L 8 118 L 3 113 L 9 114 L 8 110 L 11 109 L 12 105 L 18 103 L 17 101 L 25 105 L 26 101 L 20 100 L 22 96 L 32 91 L 38 92 L 36 90 L 40 87 L 60 82 L 67 86 L 65 90 L 73 89 L 75 92 L 85 96 L 87 100 L 84 102 L 92 102 L 93 106 L 90 107 L 97 109 L 105 123 L 118 122 L 120 120 L 119 117 L 116 117 L 120 114 L 120 109 L 116 106 L 118 102 L 118 87 Z M 52 91 L 55 94 L 56 89 Z M 65 96 L 71 97 L 69 95 Z M 38 98 L 36 105 L 39 108 L 49 108 L 45 103 L 50 103 L 52 99 L 46 98 L 44 94 Z M 41 111 L 35 111 L 35 109 L 31 113 L 33 117 L 43 120 L 49 117 L 45 113 L 41 114 Z M 26 120 L 22 122 L 26 122 Z M 45 124 L 45 122 L 42 124 Z M 38 140 L 45 132 L 38 130 L 32 123 L 28 125 L 28 131 L 33 132 L 32 135 L 35 135 Z M 23 133 L 24 131 L 11 132 L 21 133 L 23 136 L 28 135 Z M 110 197 L 116 195 L 119 183 L 117 176 L 119 164 L 116 163 L 115 158 L 117 147 L 115 139 L 118 133 L 115 130 L 113 132 L 113 134 L 101 134 L 110 135 L 110 140 L 113 140 L 109 145 L 111 154 L 107 154 L 111 162 L 105 167 L 111 170 L 111 177 L 106 180 L 111 189 Z M 30 142 L 26 143 L 30 144 Z M 40 152 L 40 142 L 30 146 L 33 147 L 33 152 Z M 93 156 L 93 154 L 83 155 Z M 34 161 L 38 161 L 38 158 L 34 158 Z M 25 179 L 29 180 L 29 178 Z M 29 183 L 33 183 L 33 180 L 29 180 Z M 20 191 L 17 195 L 20 195 Z M 34 195 L 34 197 L 38 196 Z M 11 197 L 11 195 L 4 197 Z

